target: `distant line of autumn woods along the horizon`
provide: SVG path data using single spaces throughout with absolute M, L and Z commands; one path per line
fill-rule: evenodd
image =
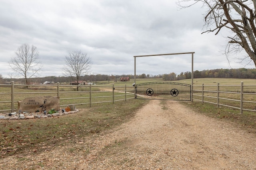
M 162 78 L 164 81 L 174 81 L 174 80 L 184 80 L 191 78 L 191 72 L 181 72 L 180 74 L 176 74 L 171 72 L 170 74 L 138 74 L 136 78 Z M 97 84 L 99 81 L 108 81 L 108 83 L 120 81 L 121 77 L 129 77 L 130 79 L 134 79 L 134 75 L 132 74 L 116 74 L 116 75 L 108 75 L 108 74 L 91 74 L 80 76 L 80 80 L 86 82 L 92 82 Z M 256 69 L 255 68 L 232 68 L 232 69 L 212 69 L 212 70 L 202 70 L 202 71 L 194 71 L 194 78 L 248 78 L 254 79 L 256 78 Z M 4 84 L 4 82 L 17 81 L 21 83 L 25 83 L 24 78 L 3 78 L 0 74 L 0 84 Z M 30 78 L 30 84 L 40 84 L 46 81 L 50 82 L 60 82 L 60 83 L 70 83 L 72 82 L 72 77 L 68 76 L 46 76 L 46 77 L 37 77 Z

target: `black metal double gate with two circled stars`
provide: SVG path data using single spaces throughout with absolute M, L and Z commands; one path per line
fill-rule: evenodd
M 191 85 L 176 82 L 137 84 L 136 99 L 191 101 Z

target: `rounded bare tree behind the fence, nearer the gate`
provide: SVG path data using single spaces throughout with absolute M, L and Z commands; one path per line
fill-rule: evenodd
M 72 51 L 65 56 L 65 65 L 62 70 L 65 76 L 70 76 L 72 79 L 75 79 L 78 85 L 80 77 L 87 74 L 91 66 L 92 60 L 86 53 L 82 51 Z M 78 86 L 76 90 L 78 91 Z

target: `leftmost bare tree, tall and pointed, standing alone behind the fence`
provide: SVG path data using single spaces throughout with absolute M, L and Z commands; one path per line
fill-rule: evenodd
M 42 68 L 39 53 L 34 45 L 30 47 L 25 43 L 18 47 L 15 54 L 16 57 L 11 58 L 9 65 L 12 70 L 23 76 L 25 83 L 28 84 L 28 79 L 36 76 Z

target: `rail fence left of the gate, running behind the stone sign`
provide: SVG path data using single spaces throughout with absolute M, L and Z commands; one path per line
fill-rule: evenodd
M 18 101 L 24 98 L 42 96 L 46 94 L 55 95 L 60 98 L 60 107 L 71 105 L 91 105 L 134 99 L 134 86 L 96 86 L 96 85 L 20 85 L 11 84 L 0 85 L 4 88 L 0 96 L 0 112 L 18 110 Z M 23 88 L 22 88 L 23 87 Z M 48 88 L 51 89 L 48 89 Z M 81 91 L 74 91 L 76 88 Z M 41 88 L 41 89 L 40 89 Z M 70 91 L 72 90 L 72 91 Z M 26 91 L 26 92 L 24 92 Z M 102 95 L 102 96 L 101 96 Z M 8 100 L 9 99 L 9 100 Z M 2 101 L 7 100 L 7 101 Z

